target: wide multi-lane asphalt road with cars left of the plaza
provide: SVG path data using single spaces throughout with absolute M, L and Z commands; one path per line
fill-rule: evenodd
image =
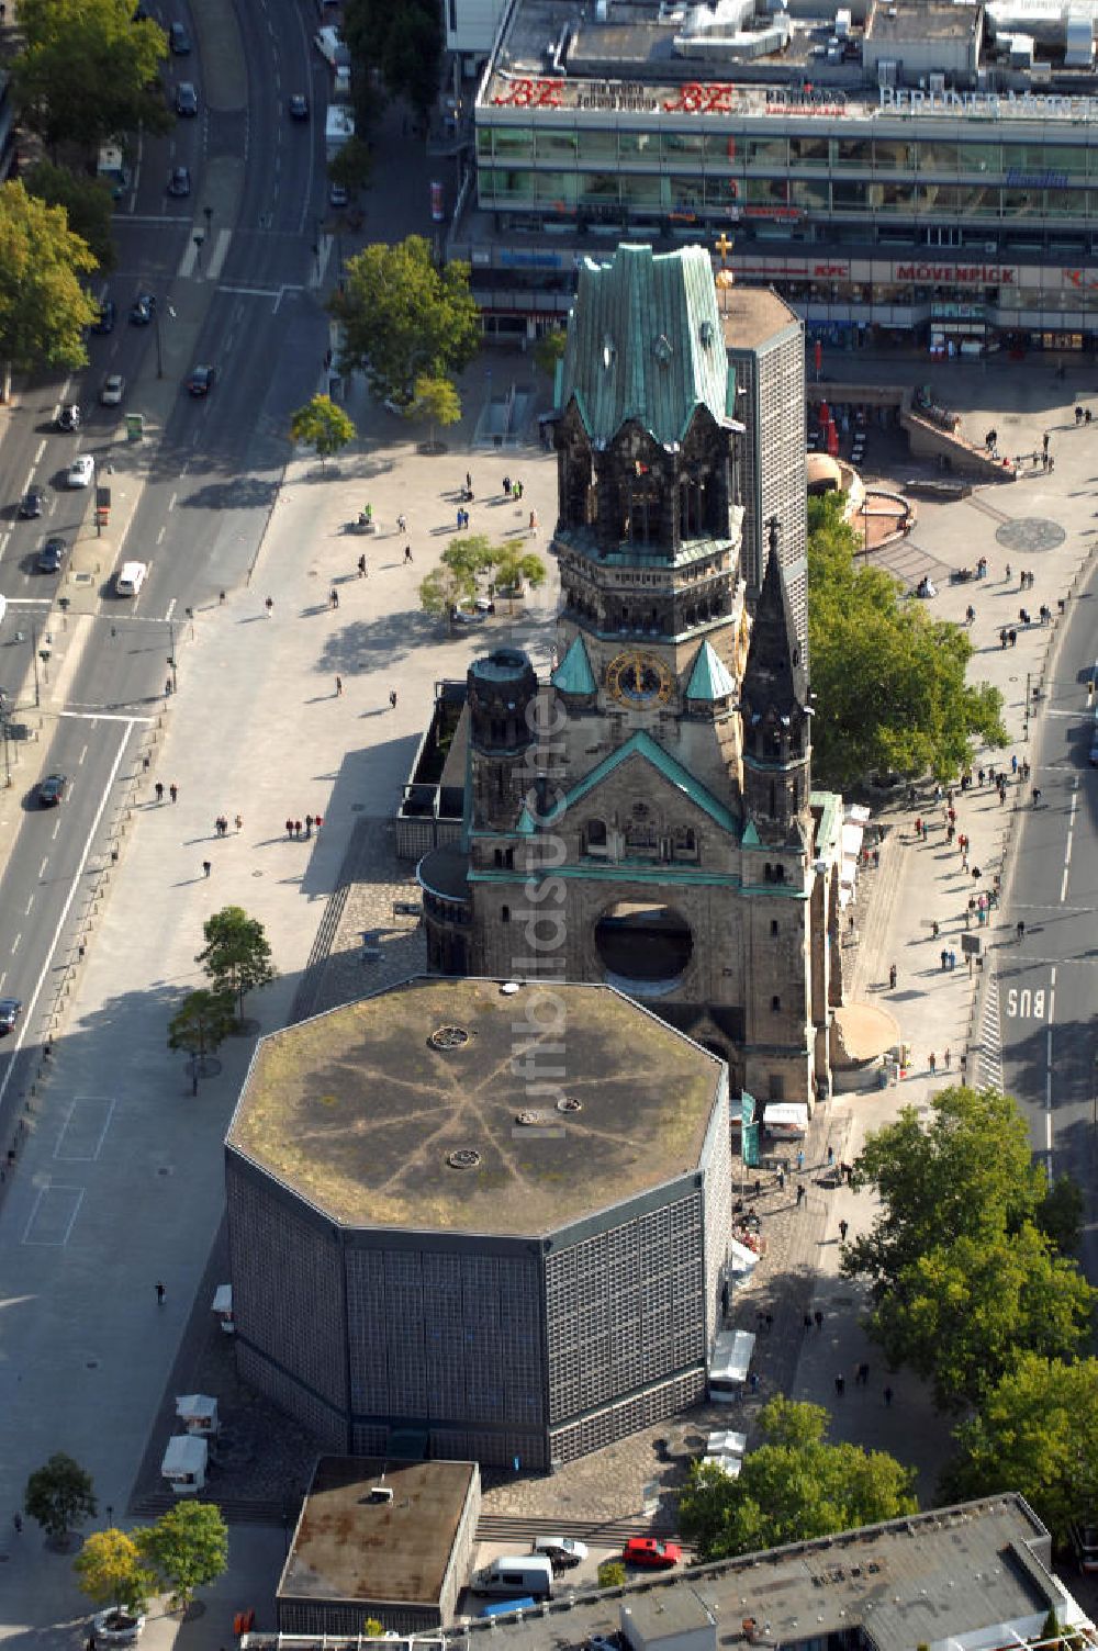
M 187 608 L 216 601 L 218 589 L 248 575 L 289 451 L 289 414 L 315 391 L 327 347 L 317 291 L 332 251 L 324 233 L 327 69 L 310 48 L 312 12 L 294 0 L 239 7 L 239 41 L 228 38 L 225 15 L 203 13 L 196 28 L 177 7 L 160 20 L 175 17 L 188 21 L 195 50 L 170 59 L 168 86 L 193 81 L 200 114 L 140 145 L 132 193 L 116 215 L 119 264 L 106 282 L 117 305 L 116 329 L 89 340 L 91 365 L 79 378 L 25 388 L 0 452 L 7 502 L 0 504 L 0 593 L 10 601 L 0 687 L 8 695 L 33 644 L 61 622 L 53 608 L 61 581 L 35 571 L 38 546 L 50 533 L 73 542 L 94 499 L 92 490 L 64 487 L 66 466 L 76 452 L 91 452 L 99 484 L 125 484 L 137 495 L 117 556 L 97 576 L 97 617 L 66 684 L 64 710 L 46 717 L 35 751 L 41 773 L 69 776 L 69 794 L 56 811 L 38 809 L 28 789 L 38 766 L 31 761 L 17 769 L 0 804 L 8 850 L 0 880 L 0 996 L 25 1004 L 17 1034 L 0 1047 L 3 1134 L 25 1076 L 20 1065 L 41 1040 L 51 969 L 74 938 L 81 880 L 107 852 L 107 827 L 142 725 L 163 705 L 168 657 L 185 669 L 185 650 L 175 647 L 180 622 Z M 216 76 L 216 107 L 206 104 L 203 46 Z M 234 81 L 226 61 L 241 66 Z M 310 99 L 307 124 L 286 112 L 297 91 Z M 185 200 L 165 193 L 175 165 L 192 173 Z M 157 325 L 129 325 L 139 291 L 157 297 Z M 198 362 L 213 363 L 218 375 L 206 398 L 183 386 Z M 97 406 L 107 371 L 127 380 L 122 411 L 154 409 L 140 447 L 127 447 L 119 414 Z M 69 400 L 84 408 L 78 434 L 53 429 L 58 406 Z M 46 490 L 46 513 L 18 522 L 18 500 L 31 480 Z M 150 568 L 129 603 L 111 586 L 122 560 Z M 48 669 L 40 665 L 40 674 Z

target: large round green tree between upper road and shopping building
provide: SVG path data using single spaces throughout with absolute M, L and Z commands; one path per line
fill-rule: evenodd
M 340 367 L 365 371 L 378 398 L 408 406 L 421 373 L 461 371 L 477 353 L 480 324 L 469 264 L 436 269 L 423 236 L 367 246 L 347 261 L 343 276 L 329 299 L 343 327 Z

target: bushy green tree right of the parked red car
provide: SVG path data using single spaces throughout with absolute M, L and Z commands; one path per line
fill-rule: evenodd
M 883 1451 L 827 1445 L 827 1412 L 771 1398 L 760 1415 L 764 1443 L 733 1479 L 693 1463 L 679 1506 L 698 1559 L 725 1559 L 832 1535 L 913 1514 L 915 1473 Z

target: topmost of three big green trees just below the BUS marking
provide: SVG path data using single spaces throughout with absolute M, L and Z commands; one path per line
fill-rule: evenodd
M 845 1245 L 842 1271 L 865 1275 L 875 1298 L 939 1245 L 1015 1232 L 1045 1197 L 1015 1101 L 964 1086 L 935 1096 L 930 1128 L 905 1106 L 895 1123 L 870 1134 L 854 1184 L 873 1187 L 880 1213 Z

